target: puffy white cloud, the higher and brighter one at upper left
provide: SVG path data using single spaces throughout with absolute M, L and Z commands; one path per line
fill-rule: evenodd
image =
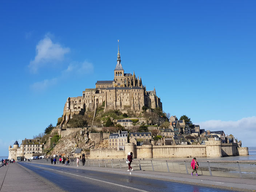
M 64 55 L 70 51 L 68 47 L 62 47 L 59 43 L 53 43 L 50 34 L 45 35 L 36 45 L 35 59 L 30 61 L 28 67 L 32 72 L 37 72 L 40 67 L 47 63 L 61 61 Z

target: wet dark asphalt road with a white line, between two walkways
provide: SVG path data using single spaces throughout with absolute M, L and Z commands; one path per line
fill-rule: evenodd
M 19 163 L 25 168 L 51 181 L 65 191 L 101 191 L 104 192 L 230 192 L 229 190 L 175 183 L 166 180 L 121 175 L 109 172 L 91 171 L 71 167 L 42 164 Z

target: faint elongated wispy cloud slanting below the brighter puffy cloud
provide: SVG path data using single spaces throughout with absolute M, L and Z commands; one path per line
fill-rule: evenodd
M 52 79 L 45 79 L 43 81 L 38 81 L 31 85 L 31 89 L 36 92 L 45 91 L 47 88 L 54 86 L 64 79 L 67 79 L 70 76 L 77 77 L 84 74 L 89 74 L 93 72 L 93 65 L 87 61 L 83 63 L 72 62 L 68 65 L 67 69 L 61 71 L 61 74 Z

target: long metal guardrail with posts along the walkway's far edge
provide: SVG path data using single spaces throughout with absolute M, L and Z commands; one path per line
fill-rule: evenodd
M 69 165 L 77 165 L 76 160 L 69 160 Z M 50 159 L 32 160 L 35 163 L 51 164 Z M 67 163 L 65 161 L 65 163 Z M 190 161 L 168 161 L 168 160 L 133 160 L 132 168 L 145 171 L 160 171 L 171 173 L 191 173 L 192 168 Z M 54 163 L 53 163 L 54 164 Z M 60 164 L 59 161 L 56 164 Z M 79 166 L 83 163 L 80 160 Z M 109 167 L 127 169 L 128 164 L 125 160 L 86 160 L 85 166 L 90 167 Z M 209 161 L 199 162 L 197 170 L 199 175 L 221 176 L 221 177 L 238 177 L 246 179 L 256 179 L 256 162 L 253 163 L 216 163 Z

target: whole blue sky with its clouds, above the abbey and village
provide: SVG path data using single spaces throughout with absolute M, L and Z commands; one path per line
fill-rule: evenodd
M 255 6 L 1 1 L 0 154 L 56 124 L 68 97 L 112 80 L 117 39 L 125 72 L 155 86 L 165 112 L 255 146 Z

